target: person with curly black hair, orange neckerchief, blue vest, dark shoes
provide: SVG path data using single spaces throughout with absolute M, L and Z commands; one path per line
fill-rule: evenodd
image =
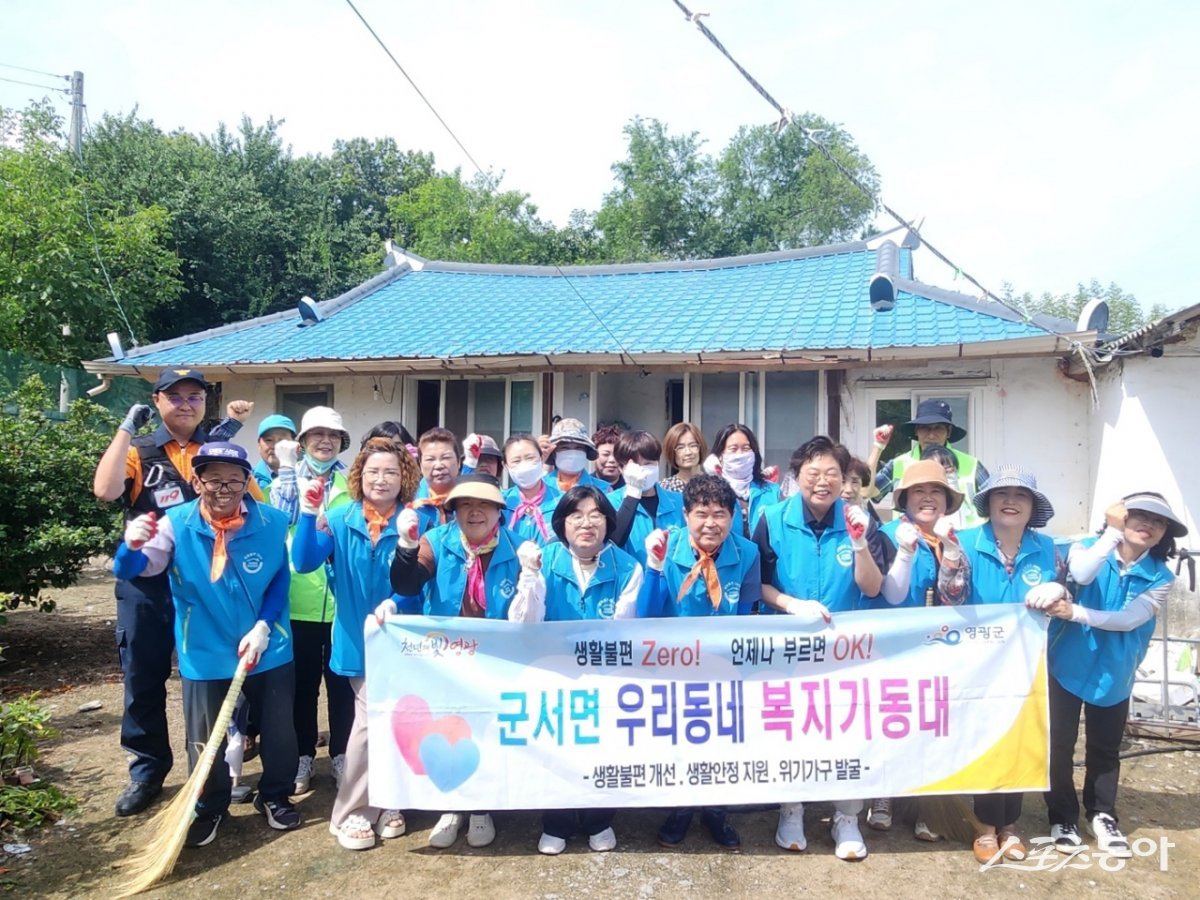
M 646 538 L 638 617 L 750 614 L 762 595 L 762 577 L 757 547 L 732 530 L 737 503 L 733 488 L 715 475 L 696 475 L 686 484 L 685 527 L 655 529 Z M 691 809 L 672 811 L 659 828 L 659 844 L 683 844 L 691 817 Z M 725 809 L 703 809 L 700 820 L 721 848 L 742 846 Z

